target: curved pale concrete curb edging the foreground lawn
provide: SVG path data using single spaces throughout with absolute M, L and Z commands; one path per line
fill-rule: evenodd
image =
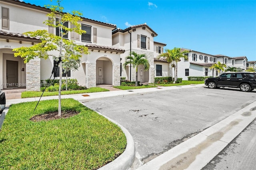
M 86 106 L 84 103 L 82 103 L 82 105 Z M 88 108 L 91 109 L 90 107 Z M 127 141 L 127 145 L 124 152 L 120 156 L 118 156 L 115 160 L 113 160 L 112 162 L 109 162 L 105 166 L 102 166 L 98 170 L 110 170 L 110 169 L 111 170 L 127 170 L 128 168 L 130 168 L 130 166 L 132 166 L 132 163 L 135 160 L 135 144 L 134 144 L 132 135 L 126 128 L 124 128 L 122 125 L 120 125 L 116 121 L 113 121 L 112 119 L 110 119 L 109 117 L 106 117 L 105 115 L 103 115 L 98 111 L 95 111 L 95 112 L 97 112 L 99 115 L 102 115 L 112 123 L 118 125 L 121 128 L 121 130 L 124 132 L 126 136 L 126 141 Z

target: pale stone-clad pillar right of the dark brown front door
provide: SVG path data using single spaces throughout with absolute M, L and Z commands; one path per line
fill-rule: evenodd
M 40 59 L 26 63 L 26 90 L 40 91 Z

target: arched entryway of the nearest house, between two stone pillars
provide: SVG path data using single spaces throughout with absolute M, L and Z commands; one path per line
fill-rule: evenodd
M 96 60 L 96 84 L 113 84 L 113 63 L 107 57 Z

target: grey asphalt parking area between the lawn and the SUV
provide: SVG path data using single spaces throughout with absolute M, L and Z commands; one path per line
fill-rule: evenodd
M 136 168 L 254 101 L 256 90 L 246 93 L 238 89 L 192 87 L 84 104 L 132 134 Z

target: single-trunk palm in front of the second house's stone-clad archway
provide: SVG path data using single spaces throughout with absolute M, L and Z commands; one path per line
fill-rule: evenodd
M 132 51 L 131 55 L 129 55 L 125 58 L 125 61 L 123 64 L 124 69 L 127 64 L 132 64 L 132 67 L 136 68 L 135 86 L 138 86 L 138 65 L 141 65 L 141 64 L 144 65 L 144 70 L 147 71 L 150 67 L 148 59 L 145 54 L 137 54 L 136 52 Z

